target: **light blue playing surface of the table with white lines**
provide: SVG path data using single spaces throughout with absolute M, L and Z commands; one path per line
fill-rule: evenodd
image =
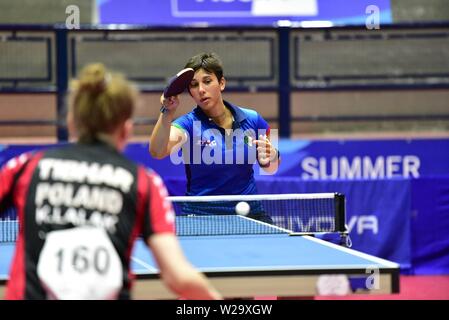
M 199 221 L 199 225 L 212 225 L 206 217 L 177 218 L 177 227 L 187 227 L 186 221 Z M 225 230 L 232 223 L 260 224 L 241 218 L 229 217 L 218 222 Z M 216 227 L 216 221 L 214 223 Z M 268 226 L 268 227 L 267 227 Z M 271 226 L 262 226 L 271 228 Z M 181 236 L 181 246 L 188 260 L 203 272 L 266 271 L 266 270 L 326 270 L 366 269 L 367 267 L 399 268 L 387 260 L 369 256 L 355 250 L 308 236 L 287 233 Z M 9 273 L 14 243 L 0 243 L 0 279 Z M 131 269 L 136 274 L 157 273 L 156 264 L 142 240 L 135 244 Z

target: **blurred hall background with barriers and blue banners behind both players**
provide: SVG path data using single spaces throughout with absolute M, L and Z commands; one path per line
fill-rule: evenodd
M 449 299 L 447 0 L 0 0 L 0 164 L 65 142 L 68 82 L 103 62 L 142 90 L 126 154 L 183 194 L 148 139 L 201 51 L 221 56 L 225 99 L 279 130 L 259 192 L 344 193 L 354 249 L 401 264 L 386 298 Z

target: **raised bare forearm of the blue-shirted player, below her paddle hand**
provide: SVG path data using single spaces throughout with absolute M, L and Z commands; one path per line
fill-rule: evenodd
M 168 155 L 167 146 L 170 139 L 172 116 L 161 113 L 150 138 L 150 154 L 152 157 L 162 159 Z

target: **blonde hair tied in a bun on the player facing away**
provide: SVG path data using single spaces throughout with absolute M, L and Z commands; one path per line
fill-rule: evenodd
M 114 132 L 133 115 L 137 89 L 101 63 L 87 65 L 70 91 L 70 113 L 80 142 Z

